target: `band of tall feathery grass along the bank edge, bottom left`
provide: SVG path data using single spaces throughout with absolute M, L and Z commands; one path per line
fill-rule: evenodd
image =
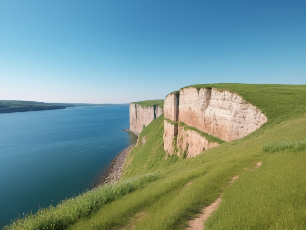
M 113 184 L 95 188 L 80 194 L 77 197 L 62 201 L 56 207 L 41 209 L 37 214 L 30 214 L 24 219 L 15 221 L 5 230 L 40 230 L 40 229 L 63 229 L 75 223 L 82 217 L 96 212 L 102 205 L 110 203 L 119 197 L 129 194 L 159 178 L 159 173 L 150 173 L 136 178 L 122 180 Z

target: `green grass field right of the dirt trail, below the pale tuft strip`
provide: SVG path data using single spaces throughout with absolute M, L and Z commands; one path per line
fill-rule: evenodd
M 205 229 L 306 229 L 305 151 L 269 154 L 224 191 Z

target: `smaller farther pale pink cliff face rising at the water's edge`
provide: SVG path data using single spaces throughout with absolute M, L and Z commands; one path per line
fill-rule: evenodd
M 132 132 L 140 133 L 144 126 L 147 126 L 155 118 L 162 115 L 162 108 L 159 106 L 142 106 L 130 103 L 130 129 Z

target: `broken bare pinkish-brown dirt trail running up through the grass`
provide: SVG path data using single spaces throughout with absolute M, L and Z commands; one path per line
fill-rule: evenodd
M 252 170 L 255 170 L 258 167 L 260 167 L 261 164 L 262 164 L 262 162 L 257 162 L 256 166 Z M 239 176 L 234 176 L 232 178 L 232 180 L 230 181 L 228 186 L 233 184 L 233 182 L 238 178 L 239 178 Z M 189 221 L 189 227 L 186 228 L 186 230 L 203 230 L 204 229 L 203 226 L 204 226 L 205 221 L 207 220 L 208 217 L 211 216 L 211 213 L 213 213 L 219 207 L 221 202 L 222 202 L 221 198 L 218 197 L 217 200 L 215 200 L 214 203 L 210 204 L 206 208 L 201 209 L 200 215 L 197 218 Z

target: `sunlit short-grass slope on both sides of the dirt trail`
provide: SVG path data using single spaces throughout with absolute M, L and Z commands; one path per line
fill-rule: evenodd
M 265 142 L 303 138 L 306 116 L 259 136 L 225 143 L 161 170 L 161 178 L 104 206 L 68 229 L 120 229 L 140 211 L 136 229 L 184 229 L 219 194 L 206 229 L 305 229 L 306 151 L 262 151 Z M 251 171 L 256 162 L 263 165 Z M 248 169 L 248 170 L 245 170 Z M 227 188 L 230 179 L 241 175 Z M 192 182 L 185 186 L 188 182 Z M 115 217 L 115 218 L 114 218 Z

